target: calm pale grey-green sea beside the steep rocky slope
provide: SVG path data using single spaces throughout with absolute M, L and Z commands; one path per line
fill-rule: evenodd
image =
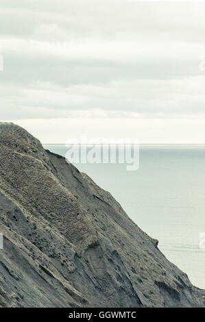
M 64 145 L 45 145 L 65 156 Z M 205 146 L 143 145 L 138 171 L 124 164 L 75 164 L 110 191 L 165 256 L 205 289 Z

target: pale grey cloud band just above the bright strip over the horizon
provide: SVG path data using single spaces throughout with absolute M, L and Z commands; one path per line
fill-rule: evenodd
M 149 95 L 147 95 L 149 93 Z M 33 82 L 0 87 L 1 119 L 63 117 L 204 117 L 204 76 L 130 79 L 106 84 L 59 86 Z

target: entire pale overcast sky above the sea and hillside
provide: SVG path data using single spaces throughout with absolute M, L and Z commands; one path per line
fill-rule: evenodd
M 1 0 L 0 120 L 43 143 L 205 143 L 204 12 L 200 1 Z

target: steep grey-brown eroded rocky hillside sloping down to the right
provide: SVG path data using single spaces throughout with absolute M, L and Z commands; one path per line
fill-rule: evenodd
M 0 307 L 200 307 L 202 290 L 102 190 L 0 123 Z

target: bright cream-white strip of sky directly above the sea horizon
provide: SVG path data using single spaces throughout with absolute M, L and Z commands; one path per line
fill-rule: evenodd
M 204 119 L 24 119 L 13 120 L 43 143 L 62 143 L 79 140 L 86 134 L 88 140 L 123 138 L 136 139 L 140 144 L 204 144 Z M 159 140 L 160 138 L 160 140 Z

